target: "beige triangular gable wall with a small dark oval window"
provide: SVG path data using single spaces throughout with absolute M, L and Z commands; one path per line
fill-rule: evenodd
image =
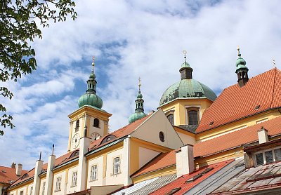
M 164 141 L 161 141 L 159 138 L 160 132 L 164 135 Z M 158 109 L 157 112 L 152 114 L 141 126 L 138 126 L 138 128 L 131 133 L 130 137 L 136 137 L 140 140 L 159 144 L 170 149 L 178 149 L 183 146 L 181 138 L 178 136 L 173 126 L 171 126 L 171 123 L 166 118 L 162 109 Z

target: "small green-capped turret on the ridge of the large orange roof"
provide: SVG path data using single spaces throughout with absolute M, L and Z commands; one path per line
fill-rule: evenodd
M 249 69 L 246 67 L 246 61 L 241 57 L 240 47 L 237 46 L 238 58 L 236 60 L 236 74 L 237 74 L 237 82 L 240 87 L 244 86 L 248 78 L 248 71 Z

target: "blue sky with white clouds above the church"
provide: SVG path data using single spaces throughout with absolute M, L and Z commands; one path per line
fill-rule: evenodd
M 156 110 L 171 84 L 180 80 L 183 50 L 193 79 L 215 91 L 237 82 L 237 45 L 249 77 L 281 68 L 281 4 L 262 1 L 95 0 L 76 1 L 78 18 L 51 23 L 36 39 L 37 71 L 8 86 L 1 102 L 15 128 L 0 136 L 0 165 L 46 162 L 67 153 L 70 120 L 85 93 L 96 57 L 97 95 L 111 113 L 110 131 L 128 124 L 135 109 L 138 77 L 145 112 Z

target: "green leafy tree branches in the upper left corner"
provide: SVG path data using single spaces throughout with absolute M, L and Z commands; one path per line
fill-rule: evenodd
M 74 20 L 74 6 L 71 0 L 0 1 L 0 95 L 11 99 L 13 93 L 4 87 L 4 82 L 16 82 L 22 74 L 31 74 L 36 69 L 35 51 L 30 43 L 42 38 L 39 27 L 48 27 L 49 21 L 65 21 L 67 15 Z M 0 112 L 0 126 L 13 128 L 13 117 L 5 114 L 3 104 Z M 3 134 L 0 129 L 0 135 Z

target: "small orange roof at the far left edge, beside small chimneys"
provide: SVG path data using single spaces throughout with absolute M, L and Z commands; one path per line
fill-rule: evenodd
M 25 175 L 27 170 L 22 170 L 22 175 Z M 20 176 L 15 175 L 15 168 L 0 166 L 0 183 L 11 184 L 15 180 L 18 180 Z

